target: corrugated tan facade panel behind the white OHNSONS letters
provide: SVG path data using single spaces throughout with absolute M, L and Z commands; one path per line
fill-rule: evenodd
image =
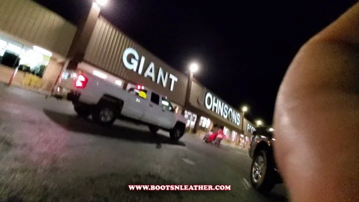
M 193 81 L 192 87 L 191 87 L 191 93 L 189 97 L 189 102 L 192 107 L 195 107 L 196 109 L 199 109 L 200 111 L 204 112 L 205 114 L 209 115 L 208 118 L 212 119 L 215 123 L 222 124 L 231 130 L 235 130 L 239 132 L 242 129 L 242 125 L 239 126 L 235 125 L 233 122 L 229 121 L 228 119 L 225 119 L 221 117 L 219 114 L 206 109 L 204 106 L 204 96 L 207 92 L 210 92 L 208 89 L 206 89 L 204 86 L 199 84 L 198 82 Z M 216 96 L 214 93 L 210 92 L 212 95 Z M 218 98 L 218 96 L 216 96 Z M 233 108 L 233 107 L 232 107 Z M 203 114 L 204 116 L 206 116 Z M 240 115 L 242 118 L 242 115 Z

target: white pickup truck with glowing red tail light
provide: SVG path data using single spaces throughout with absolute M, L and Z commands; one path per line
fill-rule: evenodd
M 98 71 L 90 72 L 66 70 L 55 86 L 53 96 L 72 101 L 79 116 L 92 115 L 92 119 L 101 125 L 112 125 L 124 116 L 148 125 L 153 133 L 159 129 L 169 131 L 173 141 L 183 136 L 186 119 L 175 112 L 165 96 L 140 85 L 126 91 L 122 89 L 121 81 L 111 80 L 106 74 L 94 75 Z

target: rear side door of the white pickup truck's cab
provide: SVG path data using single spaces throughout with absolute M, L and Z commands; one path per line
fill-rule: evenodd
M 162 126 L 160 120 L 162 119 L 163 112 L 160 106 L 161 96 L 157 93 L 152 92 L 150 100 L 148 102 L 148 107 L 146 108 L 145 114 L 142 117 L 141 121 L 153 124 L 156 126 Z

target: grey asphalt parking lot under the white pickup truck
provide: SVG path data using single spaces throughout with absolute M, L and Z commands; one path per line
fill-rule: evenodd
M 249 186 L 247 151 L 215 148 L 116 121 L 110 128 L 78 118 L 71 103 L 0 84 L 0 201 L 287 202 Z M 129 191 L 128 185 L 231 185 L 231 191 Z

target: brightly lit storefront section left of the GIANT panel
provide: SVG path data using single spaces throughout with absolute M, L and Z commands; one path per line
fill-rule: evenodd
M 51 91 L 76 26 L 31 0 L 0 0 L 0 82 Z

